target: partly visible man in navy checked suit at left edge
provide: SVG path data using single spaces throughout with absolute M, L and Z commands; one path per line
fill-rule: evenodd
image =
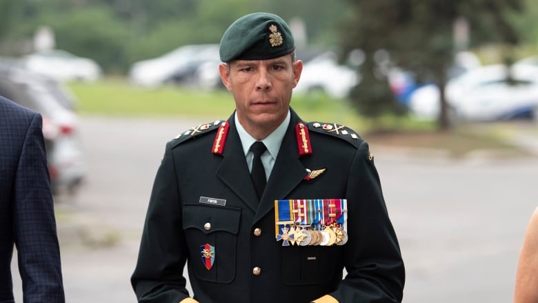
M 0 302 L 14 302 L 17 247 L 24 302 L 65 302 L 41 115 L 0 97 Z

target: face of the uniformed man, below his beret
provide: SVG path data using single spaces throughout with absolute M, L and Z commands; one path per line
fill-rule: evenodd
M 286 119 L 302 70 L 302 61 L 292 62 L 292 55 L 219 66 L 223 84 L 235 99 L 239 122 L 252 137 L 263 139 Z

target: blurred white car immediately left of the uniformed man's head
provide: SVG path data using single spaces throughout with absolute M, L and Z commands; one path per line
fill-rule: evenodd
M 166 83 L 193 84 L 197 68 L 206 61 L 219 60 L 218 44 L 181 46 L 161 57 L 136 62 L 129 72 L 133 84 L 159 86 Z

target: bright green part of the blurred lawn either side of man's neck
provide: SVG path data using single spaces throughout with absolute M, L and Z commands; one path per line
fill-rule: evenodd
M 227 90 L 203 91 L 178 86 L 142 88 L 121 79 L 105 79 L 92 84 L 72 83 L 81 115 L 188 116 L 226 119 L 235 108 Z M 306 121 L 344 124 L 356 130 L 370 127 L 346 100 L 323 94 L 294 95 L 292 108 Z

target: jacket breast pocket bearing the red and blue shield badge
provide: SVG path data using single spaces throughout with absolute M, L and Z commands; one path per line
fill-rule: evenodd
M 241 208 L 183 206 L 189 268 L 199 280 L 225 284 L 235 279 L 240 219 Z

